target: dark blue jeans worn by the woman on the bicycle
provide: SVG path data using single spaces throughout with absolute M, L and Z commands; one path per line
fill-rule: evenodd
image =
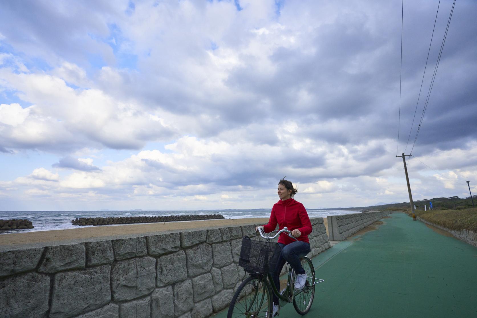
M 310 244 L 302 241 L 296 241 L 288 245 L 278 243 L 281 248 L 281 254 L 277 261 L 277 267 L 275 271 L 271 274 L 275 287 L 280 292 L 280 272 L 285 265 L 285 262 L 288 262 L 291 267 L 295 270 L 296 274 L 304 274 L 305 270 L 301 266 L 300 257 L 303 257 L 310 253 Z M 273 303 L 278 304 L 278 297 L 273 294 Z

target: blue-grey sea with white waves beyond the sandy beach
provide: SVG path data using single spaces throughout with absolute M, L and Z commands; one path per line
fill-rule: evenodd
M 307 209 L 310 217 L 326 217 L 360 213 L 349 210 L 320 210 Z M 0 219 L 28 219 L 34 228 L 23 230 L 3 230 L 1 234 L 25 233 L 33 231 L 64 230 L 85 226 L 73 226 L 71 221 L 77 217 L 120 217 L 120 216 L 161 216 L 161 215 L 204 215 L 221 214 L 226 219 L 241 219 L 250 217 L 269 217 L 270 209 L 249 210 L 198 210 L 198 211 L 0 211 Z M 109 226 L 109 225 L 105 225 Z M 115 225 L 117 226 L 117 225 Z

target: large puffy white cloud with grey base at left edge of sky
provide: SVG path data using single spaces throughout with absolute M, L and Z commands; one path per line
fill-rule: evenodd
M 73 89 L 52 75 L 16 74 L 6 69 L 0 73 L 23 100 L 36 103 L 25 109 L 16 103 L 1 105 L 0 122 L 13 126 L 3 133 L 3 143 L 10 149 L 140 148 L 146 141 L 172 135 L 161 125 L 158 113 L 100 90 Z

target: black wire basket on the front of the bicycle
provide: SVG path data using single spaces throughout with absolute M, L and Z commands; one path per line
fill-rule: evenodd
M 255 241 L 243 236 L 239 266 L 257 273 L 271 273 L 277 267 L 280 253 L 278 243 Z

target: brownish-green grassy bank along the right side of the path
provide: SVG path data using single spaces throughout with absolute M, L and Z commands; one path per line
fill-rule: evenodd
M 415 211 L 426 221 L 452 230 L 469 230 L 477 233 L 477 208 L 464 210 Z

